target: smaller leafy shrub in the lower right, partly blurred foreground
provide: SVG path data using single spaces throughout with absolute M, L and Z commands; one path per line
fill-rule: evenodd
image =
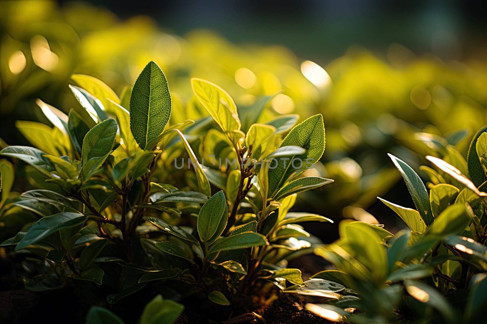
M 380 199 L 409 227 L 392 235 L 380 225 L 343 221 L 340 239 L 315 254 L 336 270 L 286 292 L 325 297 L 307 308 L 332 321 L 392 323 L 413 319 L 483 322 L 487 305 L 487 128 L 467 159 L 446 139 L 422 135 L 430 153 L 429 192 L 418 174 L 390 154 L 416 209 Z M 465 134 L 463 134 L 465 136 Z M 440 156 L 440 157 L 438 157 Z M 461 312 L 460 310 L 463 310 Z

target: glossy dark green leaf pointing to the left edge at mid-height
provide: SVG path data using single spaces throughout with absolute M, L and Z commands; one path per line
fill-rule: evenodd
M 51 161 L 44 157 L 46 153 L 28 146 L 8 146 L 1 150 L 0 154 L 15 157 L 32 166 L 40 173 L 53 177 L 51 172 L 56 171 Z

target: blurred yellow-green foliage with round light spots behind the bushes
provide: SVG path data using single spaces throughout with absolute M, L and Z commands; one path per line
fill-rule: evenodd
M 482 49 L 470 51 L 482 30 L 462 38 L 460 47 L 462 17 L 452 15 L 451 5 L 422 4 L 406 28 L 394 17 L 386 19 L 387 10 L 371 12 L 358 2 L 348 23 L 333 15 L 343 13 L 342 6 L 322 1 L 283 5 L 286 13 L 278 18 L 264 15 L 272 4 L 252 2 L 241 14 L 239 6 L 220 1 L 101 4 L 110 10 L 83 2 L 0 3 L 0 137 L 7 144 L 28 144 L 16 120 L 50 125 L 37 98 L 66 113 L 78 104 L 68 88 L 72 74 L 92 75 L 121 93 L 154 60 L 183 103 L 191 101 L 189 78 L 200 77 L 222 86 L 239 107 L 274 96 L 268 114 L 299 114 L 301 121 L 323 114 L 325 154 L 308 172 L 335 183 L 301 195 L 297 208 L 335 220 L 378 220 L 391 229 L 404 224 L 395 223 L 375 197 L 412 202 L 386 153 L 417 166 L 434 135 L 465 153 L 469 136 L 487 123 L 487 69 L 478 59 Z M 220 8 L 212 11 L 215 5 Z M 460 13 L 472 10 L 463 9 Z M 252 20 L 243 18 L 253 12 L 258 14 Z M 408 21 L 409 13 L 402 10 L 400 21 Z M 367 24 L 377 17 L 381 25 Z M 369 28 L 357 28 L 360 23 Z M 378 44 L 366 37 L 373 33 L 381 36 Z M 310 229 L 325 241 L 335 238 L 320 231 Z

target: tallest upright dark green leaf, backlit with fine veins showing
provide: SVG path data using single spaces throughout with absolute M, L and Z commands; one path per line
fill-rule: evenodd
M 150 61 L 135 80 L 130 98 L 130 129 L 142 150 L 164 131 L 170 116 L 168 81 L 161 68 Z

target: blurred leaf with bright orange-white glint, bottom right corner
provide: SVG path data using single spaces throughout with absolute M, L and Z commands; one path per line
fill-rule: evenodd
M 455 323 L 456 315 L 452 310 L 453 307 L 445 300 L 441 292 L 418 280 L 406 280 L 404 285 L 408 293 L 416 300 L 436 308 L 447 322 Z

